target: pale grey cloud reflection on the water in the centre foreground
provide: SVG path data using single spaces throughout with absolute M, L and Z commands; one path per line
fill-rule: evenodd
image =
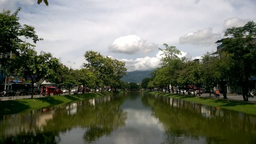
M 152 111 L 126 108 L 125 127 L 118 132 L 115 143 L 159 143 L 163 136 L 163 125 L 152 116 Z

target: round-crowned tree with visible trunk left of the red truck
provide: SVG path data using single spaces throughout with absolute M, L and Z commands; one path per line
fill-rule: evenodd
M 13 55 L 8 60 L 8 67 L 5 67 L 6 73 L 30 80 L 31 99 L 33 99 L 34 84 L 42 78 L 47 79 L 48 76 L 54 75 L 54 69 L 59 66 L 59 59 L 53 58 L 51 53 L 46 52 L 37 55 L 37 52 L 27 47 L 27 44 L 20 44 L 19 49 L 19 55 Z

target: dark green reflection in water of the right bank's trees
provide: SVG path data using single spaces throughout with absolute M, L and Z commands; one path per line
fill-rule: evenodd
M 204 138 L 206 143 L 255 142 L 255 116 L 156 95 L 142 101 L 164 124 L 168 143 L 184 143 L 185 138 Z

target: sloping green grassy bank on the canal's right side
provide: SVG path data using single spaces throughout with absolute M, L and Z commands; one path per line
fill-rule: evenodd
M 186 101 L 195 102 L 195 103 L 200 103 L 200 104 L 209 105 L 213 107 L 240 111 L 246 114 L 251 114 L 256 116 L 256 105 L 253 103 L 245 102 L 245 101 L 212 99 L 207 97 L 179 95 L 179 94 L 172 94 L 172 93 L 165 93 L 165 92 L 149 92 L 149 93 L 162 95 L 166 97 L 172 97 L 180 100 L 186 100 Z

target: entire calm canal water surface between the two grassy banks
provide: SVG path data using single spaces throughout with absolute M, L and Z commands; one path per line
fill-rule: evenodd
M 143 92 L 1 116 L 0 143 L 255 143 L 256 116 Z

